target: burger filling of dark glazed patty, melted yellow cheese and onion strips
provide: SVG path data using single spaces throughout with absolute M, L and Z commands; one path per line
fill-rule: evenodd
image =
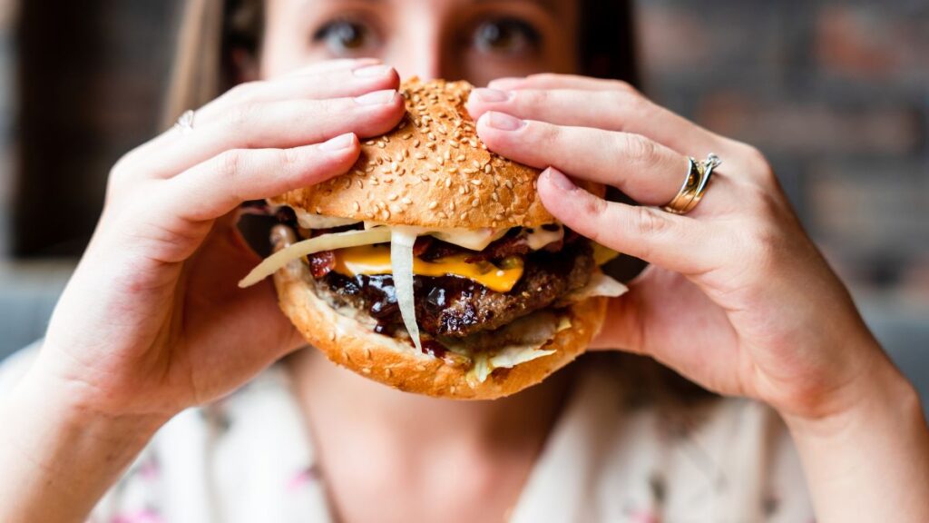
M 397 235 L 387 226 L 316 221 L 328 227 L 307 228 L 293 213 L 279 217 L 304 241 L 272 255 L 240 285 L 301 257 L 309 285 L 335 310 L 360 314 L 377 333 L 470 368 L 481 382 L 493 369 L 552 354 L 541 349 L 569 327 L 571 302 L 624 290 L 596 270 L 599 246 L 556 224 L 415 235 L 405 246 L 411 268 L 409 258 L 398 264 Z M 411 316 L 415 329 L 408 329 Z

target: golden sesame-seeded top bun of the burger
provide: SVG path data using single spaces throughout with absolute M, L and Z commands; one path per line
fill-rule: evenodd
M 467 82 L 411 78 L 407 114 L 361 144 L 346 174 L 275 198 L 309 213 L 440 228 L 535 227 L 555 222 L 536 192 L 540 171 L 487 150 L 464 108 Z

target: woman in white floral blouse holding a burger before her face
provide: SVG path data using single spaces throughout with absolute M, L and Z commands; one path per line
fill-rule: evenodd
M 92 520 L 805 521 L 788 435 L 818 520 L 929 520 L 919 398 L 765 159 L 628 84 L 567 75 L 592 71 L 574 49 L 594 56 L 579 44 L 608 39 L 615 10 L 268 0 L 252 55 L 255 34 L 237 28 L 262 7 L 227 7 L 190 3 L 184 35 L 206 37 L 180 61 L 177 100 L 247 82 L 113 168 L 41 351 L 5 369 L 0 520 L 79 521 L 106 494 Z M 235 209 L 344 172 L 359 138 L 399 121 L 398 72 L 490 82 L 469 110 L 491 150 L 546 168 L 539 192 L 570 228 L 652 263 L 595 346 L 770 410 L 592 366 L 454 403 L 294 352 L 273 289 L 235 286 L 257 260 Z M 663 206 L 687 155 L 710 152 L 725 164 L 685 216 L 607 203 L 567 176 Z

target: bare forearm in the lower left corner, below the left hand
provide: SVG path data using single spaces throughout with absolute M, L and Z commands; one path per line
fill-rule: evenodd
M 36 374 L 0 400 L 0 521 L 84 521 L 160 422 L 86 411 Z

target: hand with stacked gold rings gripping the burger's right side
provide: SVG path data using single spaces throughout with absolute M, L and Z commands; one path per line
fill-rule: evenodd
M 758 151 L 622 82 L 542 74 L 490 87 L 468 105 L 488 147 L 548 168 L 539 194 L 560 221 L 652 263 L 610 303 L 595 346 L 651 355 L 713 391 L 800 417 L 849 408 L 875 376 L 898 378 Z M 661 206 L 687 155 L 709 153 L 725 163 L 687 216 L 608 203 L 562 174 Z

